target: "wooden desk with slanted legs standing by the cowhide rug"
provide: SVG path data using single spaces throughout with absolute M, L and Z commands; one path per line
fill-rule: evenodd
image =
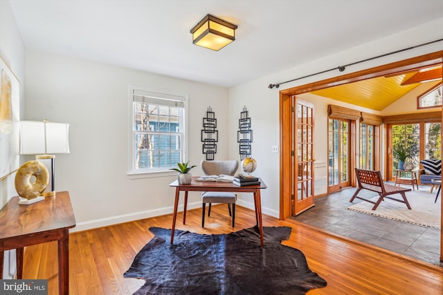
M 192 177 L 190 184 L 179 184 L 176 180 L 170 184 L 175 187 L 174 216 L 172 218 L 171 244 L 174 242 L 175 222 L 177 220 L 177 207 L 179 207 L 180 191 L 185 192 L 185 204 L 183 209 L 183 225 L 186 222 L 186 207 L 188 206 L 188 191 L 232 191 L 233 193 L 253 193 L 255 204 L 255 220 L 260 229 L 260 245 L 263 243 L 263 223 L 262 223 L 262 200 L 260 189 L 266 189 L 266 184 L 260 180 L 260 185 L 250 185 L 238 187 L 232 182 L 197 181 L 196 176 Z

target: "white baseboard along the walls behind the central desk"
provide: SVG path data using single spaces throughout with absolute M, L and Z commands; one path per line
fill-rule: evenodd
M 245 202 L 244 200 L 237 200 L 237 204 L 239 204 L 242 207 L 246 207 L 248 209 L 254 210 L 254 204 L 251 202 Z M 192 202 L 188 203 L 188 209 L 196 209 L 201 207 L 201 202 Z M 179 205 L 179 211 L 183 211 L 183 204 Z M 112 216 L 109 218 L 100 218 L 96 220 L 89 220 L 85 222 L 78 222 L 78 224 L 69 231 L 71 233 L 76 231 L 85 231 L 87 229 L 96 229 L 98 227 L 107 227 L 109 225 L 117 225 L 119 223 L 124 222 L 130 222 L 134 220 L 141 220 L 145 218 L 151 218 L 156 216 L 162 216 L 166 214 L 170 214 L 174 212 L 174 207 L 163 207 L 159 209 L 154 210 L 147 210 L 147 211 L 141 211 L 141 212 L 135 212 L 135 213 L 129 213 L 129 214 L 123 214 L 119 216 Z M 280 212 L 262 208 L 262 213 L 273 216 L 275 218 L 279 217 Z

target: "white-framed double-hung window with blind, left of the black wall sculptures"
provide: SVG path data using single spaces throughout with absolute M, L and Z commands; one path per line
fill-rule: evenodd
M 168 171 L 183 162 L 186 149 L 184 96 L 130 88 L 132 172 Z

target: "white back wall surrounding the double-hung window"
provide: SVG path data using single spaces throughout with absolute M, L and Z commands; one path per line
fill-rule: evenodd
M 211 106 L 219 131 L 215 160 L 228 158 L 226 88 L 33 50 L 26 52 L 26 80 L 26 120 L 71 124 L 71 153 L 55 158 L 55 190 L 71 195 L 78 224 L 74 231 L 172 212 L 174 189 L 168 184 L 177 179 L 176 172 L 154 178 L 127 175 L 129 84 L 189 96 L 186 160 L 191 164 L 204 159 L 200 131 Z M 191 172 L 201 175 L 197 168 Z M 201 207 L 198 193 L 190 197 L 190 208 Z

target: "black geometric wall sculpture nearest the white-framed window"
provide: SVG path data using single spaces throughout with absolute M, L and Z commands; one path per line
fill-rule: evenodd
M 208 107 L 206 117 L 203 118 L 203 129 L 201 129 L 201 142 L 203 142 L 203 153 L 206 154 L 206 160 L 214 160 L 217 153 L 217 144 L 219 141 L 219 131 L 217 128 L 217 119 L 211 107 Z

